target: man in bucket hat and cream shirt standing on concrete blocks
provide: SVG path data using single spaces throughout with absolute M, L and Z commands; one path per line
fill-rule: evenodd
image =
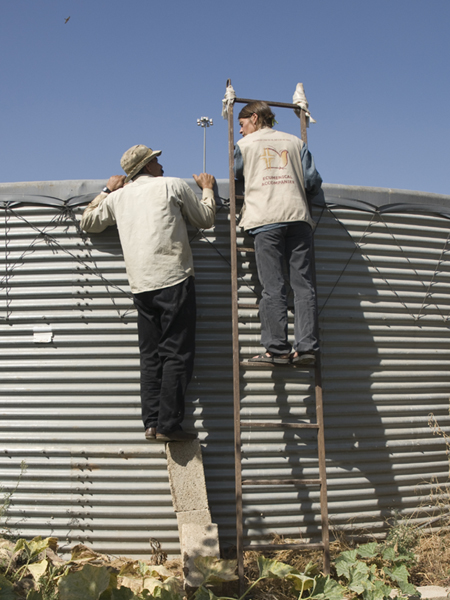
M 142 419 L 146 439 L 189 441 L 181 427 L 184 396 L 195 354 L 194 266 L 186 220 L 208 229 L 214 224 L 212 175 L 193 175 L 199 200 L 182 179 L 163 177 L 160 150 L 139 144 L 86 207 L 81 227 L 89 233 L 117 225 L 138 311 Z

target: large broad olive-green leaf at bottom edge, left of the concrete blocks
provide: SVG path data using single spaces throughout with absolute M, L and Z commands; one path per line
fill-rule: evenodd
M 84 565 L 81 571 L 69 573 L 59 582 L 59 600 L 98 600 L 109 584 L 106 567 Z

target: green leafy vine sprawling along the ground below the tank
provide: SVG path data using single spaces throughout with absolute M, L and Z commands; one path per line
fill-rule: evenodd
M 0 539 L 3 557 L 0 600 L 186 598 L 182 579 L 163 565 L 129 560 L 120 569 L 112 565 L 97 566 L 99 555 L 82 545 L 75 546 L 69 561 L 62 561 L 56 549 L 56 538 L 36 537 L 31 541 L 21 538 L 16 544 Z M 308 563 L 300 572 L 286 563 L 259 556 L 258 577 L 240 598 L 231 598 L 216 595 L 214 586 L 237 579 L 236 561 L 198 557 L 194 562 L 203 581 L 189 600 L 245 600 L 267 579 L 287 582 L 296 600 L 342 600 L 344 597 L 387 600 L 394 589 L 400 597 L 416 593 L 409 583 L 408 560 L 411 554 L 399 553 L 398 543 L 393 544 L 392 540 L 384 544 L 363 544 L 342 552 L 334 563 L 334 577 L 324 576 L 313 563 Z

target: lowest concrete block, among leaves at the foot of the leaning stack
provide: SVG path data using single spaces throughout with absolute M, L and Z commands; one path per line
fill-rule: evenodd
M 203 576 L 196 569 L 194 560 L 197 556 L 220 557 L 217 525 L 215 523 L 211 525 L 186 523 L 182 528 L 182 539 L 181 556 L 184 582 L 189 587 L 199 587 Z

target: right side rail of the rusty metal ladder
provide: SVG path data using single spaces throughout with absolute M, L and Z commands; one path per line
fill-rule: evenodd
M 300 135 L 305 144 L 308 143 L 307 134 L 307 122 L 306 113 L 300 109 Z M 309 204 L 309 212 L 312 215 L 312 206 Z M 312 238 L 312 256 L 311 256 L 311 268 L 314 291 L 317 299 L 317 278 L 316 278 L 316 259 L 315 259 L 315 247 L 314 247 L 314 236 Z M 314 329 L 316 332 L 317 340 L 319 340 L 320 348 L 320 331 L 319 331 L 319 317 L 318 311 L 316 310 L 316 318 L 314 323 Z M 323 543 L 323 572 L 325 575 L 330 573 L 330 534 L 328 526 L 328 500 L 327 500 L 327 471 L 325 463 L 325 434 L 324 434 L 324 423 L 323 423 L 323 390 L 322 390 L 322 357 L 321 352 L 317 353 L 316 365 L 314 368 L 315 375 L 315 396 L 316 396 L 316 419 L 319 429 L 317 431 L 317 453 L 319 459 L 319 476 L 320 476 L 320 516 L 322 524 L 322 543 Z

